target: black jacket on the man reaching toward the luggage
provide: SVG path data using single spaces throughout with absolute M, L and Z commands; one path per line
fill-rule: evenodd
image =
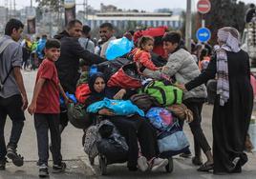
M 84 59 L 90 66 L 104 62 L 105 59 L 84 50 L 78 39 L 71 37 L 65 30 L 55 35 L 54 38 L 61 42 L 60 57 L 55 62 L 60 84 L 65 91 L 75 93 L 76 81 L 79 78 L 79 59 Z

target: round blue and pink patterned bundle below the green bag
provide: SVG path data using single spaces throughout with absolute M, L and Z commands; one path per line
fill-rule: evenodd
M 149 109 L 146 117 L 156 129 L 160 130 L 166 130 L 174 123 L 174 117 L 172 116 L 172 113 L 167 109 L 160 107 Z

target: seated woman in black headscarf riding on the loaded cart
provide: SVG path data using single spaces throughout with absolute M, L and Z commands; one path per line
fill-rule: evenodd
M 113 97 L 111 93 L 113 93 L 114 89 L 108 91 L 110 89 L 106 88 L 104 75 L 100 72 L 90 77 L 89 87 L 92 93 L 86 100 L 85 108 L 97 101 L 103 100 L 104 97 L 114 99 L 129 97 L 126 89 L 118 90 Z M 137 170 L 138 165 L 142 171 L 147 169 L 157 170 L 168 164 L 167 159 L 155 157 L 158 154 L 156 133 L 145 119 L 139 117 L 139 115 L 132 117 L 115 116 L 115 113 L 109 109 L 100 109 L 97 114 L 102 115 L 114 123 L 118 131 L 125 137 L 129 147 L 128 169 Z M 93 114 L 92 117 L 96 117 L 97 114 Z M 143 156 L 139 156 L 138 140 Z

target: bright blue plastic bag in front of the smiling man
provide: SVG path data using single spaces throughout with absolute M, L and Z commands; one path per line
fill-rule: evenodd
M 106 58 L 107 60 L 114 60 L 115 58 L 130 52 L 133 47 L 133 41 L 128 40 L 126 37 L 112 40 L 110 41 L 106 50 Z

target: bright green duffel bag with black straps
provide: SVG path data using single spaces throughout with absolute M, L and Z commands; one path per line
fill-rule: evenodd
M 155 97 L 162 106 L 182 103 L 182 90 L 171 85 L 165 86 L 161 81 L 150 82 L 141 89 L 141 92 Z

